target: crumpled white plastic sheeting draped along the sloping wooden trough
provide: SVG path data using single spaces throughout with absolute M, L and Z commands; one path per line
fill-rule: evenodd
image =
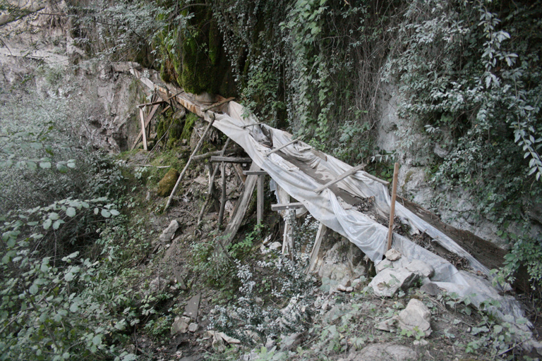
M 143 77 L 135 70 L 132 70 L 132 73 L 138 76 L 145 85 L 151 87 L 150 84 L 152 82 L 148 78 Z M 178 92 L 177 90 L 173 90 L 171 93 L 176 94 Z M 201 107 L 197 104 L 198 102 L 191 99 L 188 94 L 179 94 L 176 98 L 189 110 L 196 112 L 199 116 L 203 116 L 205 120 L 211 121 L 212 118 L 215 118 L 213 126 L 243 147 L 249 157 L 261 169 L 267 171 L 277 185 L 286 190 L 291 197 L 303 203 L 308 212 L 316 220 L 333 231 L 344 235 L 344 237 L 357 245 L 374 262 L 380 262 L 386 251 L 387 227 L 378 224 L 373 219 L 353 208 L 347 207 L 349 209 L 346 209 L 342 206 L 341 200 L 329 189 L 323 190 L 320 193 L 315 192 L 314 190 L 321 185 L 318 181 L 315 181 L 312 176 L 304 173 L 279 154 L 269 154 L 272 148 L 263 144 L 266 140 L 268 143 L 269 138 L 272 137 L 273 148 L 277 148 L 290 142 L 291 135 L 265 125 L 243 128 L 243 126 L 255 124 L 257 121 L 253 116 L 244 118 L 242 116 L 243 108 L 236 102 L 229 102 L 227 106 L 223 106 L 222 109 L 224 107 L 227 108 L 223 114 L 215 111 L 207 111 L 204 114 L 200 110 Z M 296 161 L 301 161 L 303 164 L 310 166 L 313 173 L 318 174 L 320 181 L 331 181 L 352 168 L 348 164 L 339 161 L 339 159 L 316 152 L 303 142 L 295 142 L 284 147 L 281 152 L 290 158 L 293 157 Z M 358 197 L 374 196 L 378 212 L 384 216 L 389 214 L 390 195 L 386 186 L 368 178 L 365 172 L 359 171 L 353 176 L 340 181 L 337 185 L 342 190 L 351 193 L 351 195 Z M 457 245 L 454 240 L 447 237 L 447 235 L 420 219 L 403 207 L 402 204 L 397 203 L 395 210 L 396 214 L 402 218 L 402 221 L 409 222 L 414 230 L 426 232 L 431 238 L 442 245 L 442 247 L 445 247 L 445 249 L 467 259 L 475 271 L 488 276 L 488 269 L 463 250 L 462 247 Z M 519 302 L 510 296 L 500 295 L 490 285 L 490 282 L 486 281 L 483 277 L 469 274 L 465 271 L 458 271 L 450 262 L 447 262 L 442 257 L 397 234 L 394 234 L 393 237 L 393 247 L 402 253 L 404 262 L 420 259 L 423 262 L 431 264 L 435 269 L 435 275 L 431 278 L 431 281 L 437 283 L 440 288 L 444 288 L 448 292 L 457 293 L 460 297 L 471 298 L 471 301 L 476 307 L 486 300 L 498 300 L 500 307 L 493 307 L 492 310 L 501 319 L 510 320 L 510 317 L 512 319 L 523 317 L 522 307 Z

